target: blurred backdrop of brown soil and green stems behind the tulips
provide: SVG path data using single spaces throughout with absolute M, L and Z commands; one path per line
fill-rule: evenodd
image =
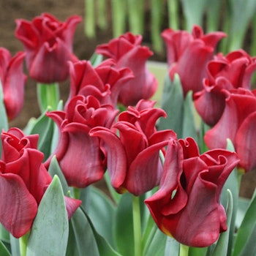
M 244 48 L 256 55 L 255 0 L 0 0 L 0 47 L 14 55 L 23 50 L 15 39 L 15 19 L 32 20 L 42 12 L 49 12 L 59 20 L 80 15 L 74 39 L 74 53 L 79 59 L 90 59 L 97 45 L 113 37 L 132 31 L 143 35 L 143 45 L 154 51 L 150 61 L 166 62 L 165 45 L 160 33 L 171 27 L 191 31 L 193 24 L 205 32 L 225 31 L 218 50 L 228 53 Z M 67 99 L 69 81 L 61 84 L 61 98 Z M 36 101 L 36 82 L 26 83 L 23 111 L 10 127 L 23 129 L 29 118 L 39 116 Z M 241 196 L 251 197 L 256 187 L 256 173 L 246 173 L 242 180 Z

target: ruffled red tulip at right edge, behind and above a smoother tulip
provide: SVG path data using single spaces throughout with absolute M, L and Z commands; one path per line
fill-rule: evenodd
M 203 90 L 194 94 L 195 108 L 203 121 L 214 126 L 225 109 L 225 90 L 251 88 L 251 78 L 256 69 L 256 58 L 244 50 L 235 50 L 223 56 L 217 54 L 207 65 Z M 225 90 L 224 90 L 225 89 Z

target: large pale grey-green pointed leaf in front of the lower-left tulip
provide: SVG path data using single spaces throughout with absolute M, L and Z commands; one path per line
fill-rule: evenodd
M 39 203 L 37 216 L 31 227 L 27 256 L 65 255 L 68 233 L 64 194 L 58 176 L 54 176 Z

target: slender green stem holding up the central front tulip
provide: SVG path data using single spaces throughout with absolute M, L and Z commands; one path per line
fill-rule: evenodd
M 133 235 L 135 241 L 135 256 L 142 255 L 141 225 L 140 225 L 140 197 L 132 196 Z

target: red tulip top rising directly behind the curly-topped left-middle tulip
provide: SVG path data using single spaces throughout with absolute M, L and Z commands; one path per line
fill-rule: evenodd
M 93 95 L 102 104 L 110 104 L 116 108 L 118 94 L 124 84 L 133 78 L 132 72 L 124 68 L 116 68 L 113 59 L 102 61 L 97 67 L 92 67 L 90 61 L 69 62 L 70 75 L 70 99 L 80 94 L 83 96 Z

